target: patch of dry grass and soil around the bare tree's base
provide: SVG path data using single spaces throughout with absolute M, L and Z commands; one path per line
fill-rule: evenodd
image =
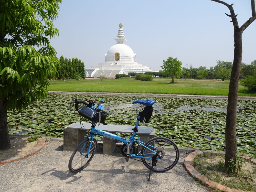
M 193 159 L 193 166 L 207 179 L 225 185 L 229 188 L 256 191 L 256 164 L 252 163 L 250 156 L 245 159 L 244 154 L 237 156 L 236 171 L 226 173 L 224 154 L 204 153 Z M 233 159 L 230 159 L 233 162 Z

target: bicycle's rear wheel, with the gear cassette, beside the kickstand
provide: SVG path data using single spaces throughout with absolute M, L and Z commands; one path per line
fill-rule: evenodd
M 141 154 L 144 154 L 144 157 L 153 157 L 155 153 L 161 153 L 162 159 L 158 159 L 156 166 L 152 168 L 155 172 L 165 172 L 172 169 L 179 161 L 179 148 L 177 145 L 166 137 L 155 137 L 148 140 L 145 143 L 145 146 L 142 147 Z M 149 149 L 151 150 L 149 150 Z M 141 158 L 143 164 L 151 169 L 152 159 Z

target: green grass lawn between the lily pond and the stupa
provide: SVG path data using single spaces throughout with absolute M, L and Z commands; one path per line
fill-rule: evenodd
M 122 79 L 51 80 L 49 91 L 71 92 L 116 92 L 116 93 L 162 93 L 191 95 L 228 95 L 229 81 L 213 79 L 171 79 L 155 78 L 153 81 Z M 239 96 L 256 96 L 239 86 Z

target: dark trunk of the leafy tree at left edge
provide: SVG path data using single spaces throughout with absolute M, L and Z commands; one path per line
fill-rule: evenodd
M 10 139 L 7 128 L 7 109 L 4 105 L 6 99 L 0 101 L 0 149 L 7 149 L 10 145 Z

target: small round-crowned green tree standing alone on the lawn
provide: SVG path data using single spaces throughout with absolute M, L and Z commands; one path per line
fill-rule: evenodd
M 164 72 L 167 74 L 167 76 L 170 76 L 172 78 L 172 83 L 174 83 L 174 77 L 179 76 L 182 71 L 182 62 L 179 61 L 177 58 L 169 57 L 168 59 L 163 60 L 163 65 L 161 68 L 164 70 Z

